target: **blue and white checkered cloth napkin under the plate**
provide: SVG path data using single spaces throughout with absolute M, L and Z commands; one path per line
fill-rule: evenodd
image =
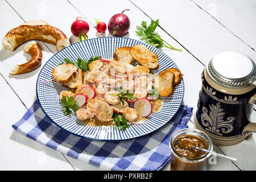
M 97 141 L 72 135 L 56 126 L 36 100 L 13 128 L 37 142 L 105 170 L 159 170 L 171 157 L 171 135 L 184 127 L 192 107 L 181 106 L 178 113 L 152 134 L 122 141 Z

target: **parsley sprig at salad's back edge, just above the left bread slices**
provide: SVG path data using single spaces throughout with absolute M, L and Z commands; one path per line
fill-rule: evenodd
M 92 63 L 92 61 L 96 61 L 98 59 L 101 59 L 101 56 L 90 57 L 90 59 L 88 61 L 85 61 L 85 60 L 81 59 L 80 57 L 77 57 L 77 61 L 69 60 L 67 58 L 64 58 L 64 61 L 65 61 L 65 63 L 73 64 L 77 68 L 82 69 L 82 72 L 86 72 L 89 70 L 89 64 Z M 63 63 L 60 63 L 59 65 L 61 65 L 61 64 L 63 64 Z

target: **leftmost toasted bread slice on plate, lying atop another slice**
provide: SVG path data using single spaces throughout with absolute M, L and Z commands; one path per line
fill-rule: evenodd
M 52 69 L 52 76 L 56 77 L 57 82 L 64 83 L 68 82 L 76 71 L 77 67 L 75 65 L 64 63 Z

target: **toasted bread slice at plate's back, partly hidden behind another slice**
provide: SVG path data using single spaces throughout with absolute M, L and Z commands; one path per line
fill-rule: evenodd
M 120 47 L 114 52 L 114 59 L 123 64 L 134 64 L 135 59 L 130 54 L 131 47 Z

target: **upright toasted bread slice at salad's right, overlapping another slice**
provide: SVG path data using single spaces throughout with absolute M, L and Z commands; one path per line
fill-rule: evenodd
M 168 97 L 174 92 L 174 73 L 164 71 L 159 73 L 159 96 Z

